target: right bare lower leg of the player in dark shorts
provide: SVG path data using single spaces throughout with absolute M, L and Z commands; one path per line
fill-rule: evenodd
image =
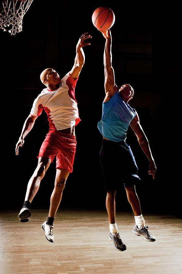
M 133 209 L 134 216 L 140 216 L 142 213 L 140 208 L 140 202 L 135 190 L 135 185 L 131 185 L 130 187 L 127 187 L 125 189 L 128 202 L 130 203 Z

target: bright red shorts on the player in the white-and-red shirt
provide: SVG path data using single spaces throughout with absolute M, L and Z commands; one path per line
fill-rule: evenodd
M 39 157 L 46 157 L 53 162 L 56 156 L 56 168 L 73 170 L 76 152 L 76 137 L 57 130 L 49 130 L 39 151 Z

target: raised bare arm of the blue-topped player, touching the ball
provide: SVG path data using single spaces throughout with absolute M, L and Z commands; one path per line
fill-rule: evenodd
M 103 37 L 106 39 L 105 49 L 104 49 L 104 74 L 105 74 L 105 92 L 106 97 L 104 102 L 108 101 L 118 90 L 115 84 L 114 69 L 112 67 L 112 37 L 110 30 L 99 30 Z

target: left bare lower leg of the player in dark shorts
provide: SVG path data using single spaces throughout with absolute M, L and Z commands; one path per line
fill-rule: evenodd
M 116 190 L 108 191 L 106 197 L 106 209 L 109 216 L 110 223 L 116 223 L 116 203 L 115 203 Z

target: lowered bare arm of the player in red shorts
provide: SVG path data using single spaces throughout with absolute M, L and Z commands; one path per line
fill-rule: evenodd
M 27 119 L 25 120 L 25 123 L 24 123 L 23 128 L 22 128 L 22 133 L 21 133 L 20 138 L 19 138 L 19 140 L 18 140 L 18 142 L 16 144 L 16 148 L 15 148 L 16 155 L 18 155 L 18 153 L 19 153 L 19 146 L 23 146 L 23 144 L 24 144 L 24 138 L 31 131 L 31 129 L 33 128 L 33 125 L 34 125 L 36 119 L 37 119 L 37 117 L 32 116 L 30 114 L 27 117 Z

